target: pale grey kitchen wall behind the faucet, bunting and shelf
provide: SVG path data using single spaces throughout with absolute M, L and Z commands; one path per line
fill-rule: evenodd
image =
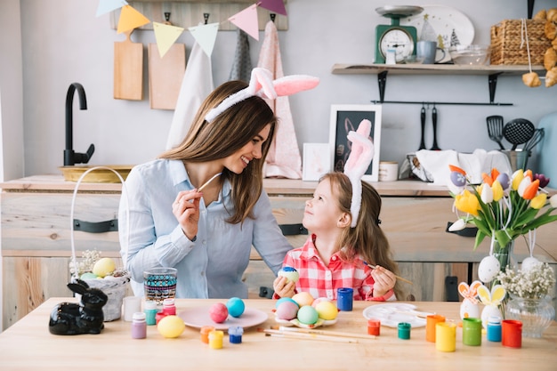
M 3 0 L 0 12 L 13 11 L 18 3 Z M 17 150 L 6 157 L 24 166 L 25 175 L 58 173 L 64 149 L 64 101 L 69 84 L 85 86 L 89 109 L 74 109 L 74 148 L 83 152 L 90 143 L 96 146 L 91 163 L 138 164 L 164 150 L 166 134 L 173 112 L 149 109 L 148 87 L 143 101 L 117 101 L 112 98 L 113 44 L 122 41 L 110 28 L 109 15 L 95 17 L 98 1 L 20 0 L 20 30 L 0 22 L 0 40 L 17 36 L 20 31 L 22 80 L 18 66 L 6 64 L 3 49 L 0 68 L 15 78 L 2 78 L 3 107 L 6 91 L 15 96 L 8 104 L 22 104 L 22 117 L 3 120 L 5 131 L 24 131 L 24 157 Z M 311 74 L 320 77 L 319 87 L 291 97 L 295 129 L 300 148 L 303 142 L 328 142 L 331 104 L 367 104 L 377 100 L 376 76 L 331 74 L 335 63 L 372 63 L 374 60 L 375 25 L 389 23 L 375 8 L 384 2 L 361 0 L 288 0 L 289 28 L 280 31 L 283 67 L 287 74 Z M 391 1 L 389 4 L 422 4 L 417 1 Z M 437 1 L 456 6 L 472 20 L 476 44 L 489 44 L 489 28 L 499 20 L 527 16 L 525 0 Z M 555 0 L 537 0 L 539 9 L 556 7 Z M 7 8 L 7 9 L 6 9 Z M 9 18 L 10 19 L 10 18 Z M 200 15 L 202 20 L 202 15 Z M 212 20 L 216 21 L 216 20 Z M 154 43 L 152 31 L 136 31 L 134 41 Z M 252 60 L 256 65 L 262 43 L 250 39 Z M 193 37 L 185 32 L 178 42 L 187 45 L 188 55 Z M 234 55 L 236 33 L 219 32 L 213 53 L 214 82 L 226 81 Z M 12 51 L 17 53 L 18 51 Z M 15 59 L 17 60 L 17 59 Z M 7 71 L 6 71 L 7 69 Z M 145 74 L 145 79 L 147 75 Z M 22 86 L 22 101 L 18 91 Z M 555 109 L 557 86 L 530 89 L 521 77 L 499 77 L 496 101 L 513 102 L 513 107 L 440 106 L 439 144 L 442 149 L 472 151 L 495 149 L 489 141 L 485 117 L 502 115 L 505 120 L 526 117 L 537 123 Z M 390 77 L 387 100 L 412 101 L 488 101 L 487 77 Z M 75 106 L 77 107 L 77 105 Z M 381 158 L 402 161 L 407 152 L 419 144 L 419 106 L 383 106 Z M 430 125 L 428 125 L 429 127 Z M 17 135 L 16 135 L 17 136 Z M 427 146 L 432 145 L 428 133 Z

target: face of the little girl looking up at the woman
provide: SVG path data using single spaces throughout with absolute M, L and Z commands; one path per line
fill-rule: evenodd
M 338 206 L 338 199 L 331 190 L 331 181 L 320 181 L 313 198 L 305 202 L 303 226 L 311 232 L 332 230 L 339 227 L 339 222 L 346 217 Z

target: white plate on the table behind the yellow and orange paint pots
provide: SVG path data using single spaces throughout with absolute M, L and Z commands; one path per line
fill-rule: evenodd
M 393 302 L 367 307 L 363 315 L 366 319 L 380 319 L 381 325 L 386 327 L 398 327 L 400 322 L 407 322 L 412 327 L 424 327 L 425 319 L 413 315 L 415 310 L 416 305 Z

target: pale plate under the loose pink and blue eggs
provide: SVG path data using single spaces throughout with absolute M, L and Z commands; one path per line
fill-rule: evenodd
M 201 328 L 204 326 L 212 326 L 217 330 L 228 331 L 229 327 L 254 327 L 261 325 L 269 316 L 264 311 L 259 311 L 253 308 L 246 308 L 244 313 L 238 318 L 228 316 L 222 323 L 216 323 L 211 316 L 209 316 L 209 309 L 211 307 L 194 307 L 180 311 L 178 316 L 183 319 L 186 326 Z

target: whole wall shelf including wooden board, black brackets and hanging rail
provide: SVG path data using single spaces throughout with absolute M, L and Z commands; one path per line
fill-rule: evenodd
M 545 75 L 543 66 L 532 66 L 532 71 Z M 528 73 L 528 66 L 462 66 L 456 64 L 415 64 L 415 65 L 385 65 L 385 64 L 342 64 L 336 63 L 332 73 L 335 75 L 377 75 L 379 87 L 379 101 L 375 103 L 397 104 L 448 104 L 471 106 L 512 106 L 513 103 L 498 103 L 495 101 L 497 77 L 520 76 Z M 489 102 L 457 102 L 457 101 L 385 101 L 384 92 L 387 85 L 387 75 L 468 75 L 487 76 L 489 88 Z

